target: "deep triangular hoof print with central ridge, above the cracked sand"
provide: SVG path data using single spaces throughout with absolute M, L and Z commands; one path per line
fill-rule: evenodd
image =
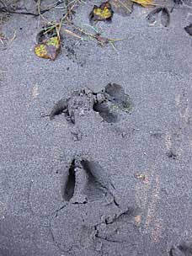
M 100 200 L 107 193 L 104 170 L 99 163 L 75 157 L 65 173 L 62 195 L 72 204 L 86 204 Z

